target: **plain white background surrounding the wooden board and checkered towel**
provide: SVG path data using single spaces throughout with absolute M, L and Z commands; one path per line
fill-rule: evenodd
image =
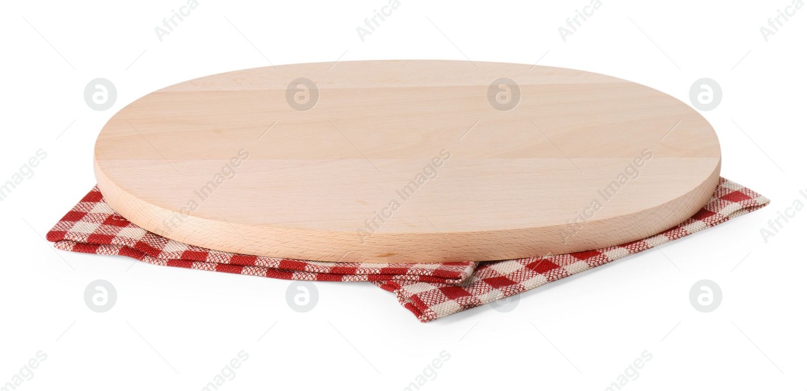
M 791 0 L 603 0 L 563 42 L 558 27 L 589 0 L 401 0 L 362 42 L 356 27 L 387 0 L 199 0 L 160 42 L 154 27 L 185 1 L 2 6 L 0 180 L 37 149 L 48 157 L 0 202 L 0 385 L 41 350 L 47 360 L 18 389 L 202 389 L 243 350 L 249 360 L 220 389 L 405 389 L 446 351 L 450 359 L 421 389 L 606 389 L 649 351 L 624 389 L 807 388 L 807 211 L 768 243 L 759 232 L 794 200 L 807 203 L 798 193 L 807 189 L 807 7 L 766 42 L 759 27 Z M 289 281 L 56 253 L 42 239 L 94 185 L 95 137 L 129 102 L 268 60 L 340 56 L 541 59 L 688 103 L 690 85 L 713 78 L 723 99 L 702 114 L 721 141 L 722 175 L 773 202 L 663 246 L 670 260 L 643 252 L 523 293 L 508 313 L 483 306 L 425 324 L 368 283 L 316 283 L 319 303 L 299 314 L 286 305 Z M 84 101 L 96 77 L 117 87 L 110 110 Z M 97 279 L 118 292 L 107 313 L 83 300 Z M 688 298 L 702 279 L 723 292 L 708 314 Z

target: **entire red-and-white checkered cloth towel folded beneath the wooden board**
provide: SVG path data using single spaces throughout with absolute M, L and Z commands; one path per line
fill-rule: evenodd
M 395 293 L 421 322 L 456 314 L 714 227 L 766 206 L 767 198 L 720 178 L 701 210 L 658 235 L 620 246 L 521 260 L 444 264 L 360 264 L 219 252 L 145 231 L 115 213 L 98 187 L 48 232 L 56 248 L 130 256 L 149 264 L 307 281 L 372 281 Z

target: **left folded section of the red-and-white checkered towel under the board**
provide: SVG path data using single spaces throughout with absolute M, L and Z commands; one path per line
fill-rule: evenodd
M 148 264 L 232 272 L 250 276 L 307 281 L 390 281 L 411 280 L 458 283 L 474 271 L 474 262 L 446 264 L 359 264 L 288 260 L 248 256 L 196 247 L 146 231 L 117 214 L 104 201 L 98 186 L 87 193 L 59 223 L 47 239 L 56 248 L 129 256 Z

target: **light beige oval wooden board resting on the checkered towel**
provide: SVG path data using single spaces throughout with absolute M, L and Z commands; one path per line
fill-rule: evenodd
M 95 146 L 107 202 L 183 243 L 300 260 L 504 260 L 627 243 L 700 209 L 709 123 L 615 77 L 525 64 L 291 64 L 132 102 Z

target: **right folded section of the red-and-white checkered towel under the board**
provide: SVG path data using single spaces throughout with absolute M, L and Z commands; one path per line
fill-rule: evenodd
M 420 322 L 429 322 L 692 235 L 758 210 L 768 202 L 759 193 L 721 177 L 709 203 L 701 210 L 683 223 L 646 239 L 587 252 L 483 262 L 468 280 L 454 285 L 417 281 L 374 281 L 374 284 L 394 292 L 401 305 Z

